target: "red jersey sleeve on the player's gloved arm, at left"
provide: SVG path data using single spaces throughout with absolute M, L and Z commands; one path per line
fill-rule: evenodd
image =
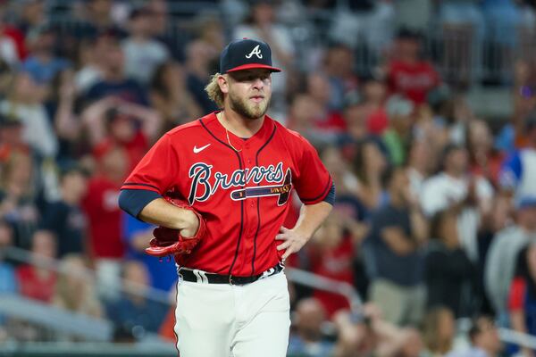
M 121 189 L 144 189 L 160 195 L 172 188 L 178 177 L 179 155 L 169 135 L 164 135 L 132 170 Z

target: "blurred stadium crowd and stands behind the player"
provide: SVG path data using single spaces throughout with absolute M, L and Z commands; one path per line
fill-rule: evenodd
M 533 356 L 534 5 L 0 1 L 0 355 L 177 354 L 174 264 L 117 197 L 253 37 L 337 187 L 287 264 L 289 356 Z

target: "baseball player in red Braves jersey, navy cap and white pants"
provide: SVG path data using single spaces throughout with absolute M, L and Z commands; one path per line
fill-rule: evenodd
M 285 356 L 283 262 L 331 211 L 331 176 L 314 147 L 265 115 L 271 49 L 239 39 L 206 87 L 222 111 L 163 135 L 121 187 L 120 205 L 154 223 L 147 253 L 177 263 L 175 332 L 182 357 Z M 292 190 L 304 205 L 282 227 Z

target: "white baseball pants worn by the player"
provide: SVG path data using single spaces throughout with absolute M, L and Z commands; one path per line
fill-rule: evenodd
M 285 357 L 289 290 L 283 271 L 244 286 L 177 284 L 180 357 Z

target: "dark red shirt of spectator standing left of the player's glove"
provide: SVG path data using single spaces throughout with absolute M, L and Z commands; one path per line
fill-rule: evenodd
M 89 247 L 95 258 L 121 258 L 125 252 L 118 203 L 120 188 L 103 176 L 89 180 L 82 206 L 88 215 Z

